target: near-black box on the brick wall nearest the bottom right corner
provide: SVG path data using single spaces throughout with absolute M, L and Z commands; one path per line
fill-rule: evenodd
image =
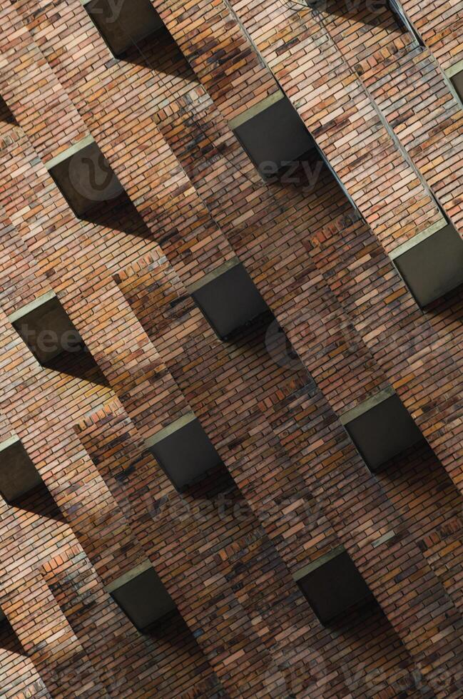
M 375 600 L 343 546 L 310 563 L 295 580 L 322 624 Z

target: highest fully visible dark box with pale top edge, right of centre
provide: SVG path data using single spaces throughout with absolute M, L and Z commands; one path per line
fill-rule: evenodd
M 265 178 L 305 160 L 315 143 L 287 97 L 274 93 L 230 121 L 243 148 Z

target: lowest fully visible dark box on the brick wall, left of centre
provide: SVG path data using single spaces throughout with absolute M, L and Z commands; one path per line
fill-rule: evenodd
M 136 566 L 108 585 L 106 591 L 138 631 L 144 631 L 176 608 L 151 561 Z

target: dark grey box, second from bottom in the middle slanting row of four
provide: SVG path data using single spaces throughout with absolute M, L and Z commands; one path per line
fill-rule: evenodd
M 220 456 L 193 412 L 148 439 L 146 447 L 178 490 L 221 464 Z

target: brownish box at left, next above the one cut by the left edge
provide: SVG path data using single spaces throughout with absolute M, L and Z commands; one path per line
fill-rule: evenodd
M 53 291 L 9 316 L 9 322 L 44 366 L 63 352 L 79 352 L 83 340 Z

